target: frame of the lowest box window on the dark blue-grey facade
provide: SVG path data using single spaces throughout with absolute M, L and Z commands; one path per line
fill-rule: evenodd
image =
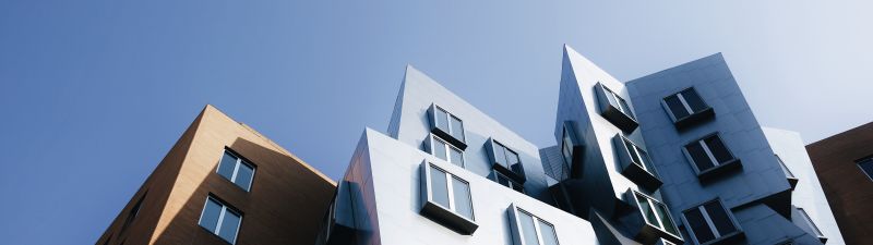
M 715 221 L 713 221 L 713 218 L 710 217 L 709 212 L 706 210 L 706 207 L 705 207 L 706 205 L 711 204 L 711 203 L 718 203 L 718 207 L 721 208 L 722 211 L 725 211 L 726 216 L 728 217 L 728 221 L 730 222 L 731 225 L 733 225 L 733 229 L 736 231 L 733 231 L 731 233 L 728 233 L 728 234 L 720 234 L 718 232 L 718 229 L 717 229 L 717 225 L 715 224 Z M 709 232 L 711 232 L 711 234 L 713 234 L 713 240 L 707 241 L 705 243 L 701 243 L 701 241 L 697 241 L 697 234 L 694 233 L 694 229 L 692 229 L 691 222 L 689 222 L 689 219 L 686 218 L 686 216 L 687 216 L 686 213 L 689 211 L 691 211 L 691 210 L 694 210 L 694 209 L 697 209 L 701 212 L 701 216 L 703 217 L 706 226 L 709 228 Z M 682 211 L 682 224 L 685 225 L 685 228 L 686 228 L 685 232 L 689 233 L 689 236 L 691 236 L 692 241 L 694 241 L 694 243 L 699 244 L 699 245 L 709 245 L 709 244 L 721 243 L 723 241 L 742 237 L 743 234 L 744 234 L 742 226 L 740 226 L 740 222 L 737 221 L 737 217 L 733 216 L 733 212 L 730 210 L 730 208 L 728 208 L 725 205 L 725 203 L 721 200 L 721 198 L 715 198 L 715 199 L 706 200 L 706 201 L 703 201 L 701 204 L 694 205 L 689 209 L 683 210 Z

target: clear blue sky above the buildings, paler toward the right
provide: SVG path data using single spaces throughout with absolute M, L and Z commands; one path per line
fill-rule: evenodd
M 407 63 L 540 146 L 563 44 L 621 81 L 722 52 L 808 143 L 873 121 L 864 1 L 300 2 L 0 1 L 3 243 L 94 243 L 205 103 L 337 179 Z

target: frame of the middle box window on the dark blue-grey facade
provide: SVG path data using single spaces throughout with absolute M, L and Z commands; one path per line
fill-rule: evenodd
M 728 152 L 728 155 L 730 155 L 730 157 L 731 157 L 730 160 L 728 160 L 728 161 L 726 161 L 723 163 L 718 162 L 718 159 L 713 154 L 713 149 L 710 148 L 710 146 L 708 146 L 704 142 L 704 140 L 709 139 L 711 137 L 717 137 L 718 140 L 721 142 L 721 145 L 725 146 L 725 151 Z M 697 144 L 698 146 L 701 146 L 703 148 L 704 152 L 706 154 L 707 159 L 709 160 L 709 163 L 713 167 L 710 167 L 710 168 L 708 168 L 706 170 L 701 170 L 701 169 L 697 168 L 697 162 L 694 161 L 694 157 L 692 157 L 691 151 L 689 150 L 689 146 L 691 146 L 692 144 Z M 740 158 L 738 158 L 737 155 L 733 154 L 733 151 L 730 148 L 731 147 L 728 146 L 728 143 L 725 140 L 725 138 L 721 137 L 721 133 L 714 132 L 714 133 L 706 134 L 703 137 L 699 137 L 699 138 L 694 139 L 694 140 L 687 142 L 686 144 L 684 144 L 682 146 L 682 152 L 685 155 L 685 159 L 691 164 L 691 168 L 694 170 L 695 173 L 697 173 L 697 179 L 704 180 L 704 181 L 708 181 L 710 179 L 714 179 L 715 176 L 718 176 L 720 173 L 742 168 L 742 163 L 741 163 Z

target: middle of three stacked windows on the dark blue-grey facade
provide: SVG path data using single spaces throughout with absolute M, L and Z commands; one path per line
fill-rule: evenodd
M 737 160 L 718 134 L 692 142 L 685 145 L 685 150 L 698 173 Z

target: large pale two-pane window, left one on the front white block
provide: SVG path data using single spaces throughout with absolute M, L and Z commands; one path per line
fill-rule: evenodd
M 429 164 L 431 201 L 473 220 L 470 185 L 433 164 Z

